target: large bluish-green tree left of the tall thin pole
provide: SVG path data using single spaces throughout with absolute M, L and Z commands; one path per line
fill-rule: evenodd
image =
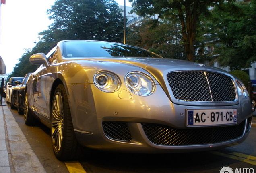
M 44 39 L 121 42 L 124 17 L 114 0 L 58 0 L 48 10 L 53 20 Z

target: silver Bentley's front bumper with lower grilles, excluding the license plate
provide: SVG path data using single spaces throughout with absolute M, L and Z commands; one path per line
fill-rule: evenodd
M 105 151 L 175 153 L 203 151 L 243 142 L 252 113 L 240 105 L 173 104 L 160 86 L 147 97 L 122 86 L 116 93 L 93 84 L 68 85 L 70 109 L 79 143 Z M 85 93 L 74 93 L 85 91 Z M 244 105 L 244 104 L 243 104 Z M 186 109 L 237 109 L 237 125 L 187 127 Z

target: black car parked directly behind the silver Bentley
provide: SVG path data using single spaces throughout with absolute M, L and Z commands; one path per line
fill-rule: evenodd
M 15 84 L 17 84 L 17 86 L 12 89 L 10 108 L 18 109 L 19 114 L 24 113 L 25 88 L 30 74 L 31 73 L 26 74 L 22 82 L 16 81 Z

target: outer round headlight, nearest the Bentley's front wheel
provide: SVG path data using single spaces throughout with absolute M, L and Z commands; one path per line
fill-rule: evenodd
M 112 93 L 120 88 L 119 78 L 107 71 L 97 72 L 93 77 L 94 84 L 101 91 Z

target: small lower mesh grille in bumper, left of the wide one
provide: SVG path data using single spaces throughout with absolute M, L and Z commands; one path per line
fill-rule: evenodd
M 117 121 L 104 121 L 103 131 L 107 137 L 117 141 L 131 141 L 132 137 L 127 123 Z

